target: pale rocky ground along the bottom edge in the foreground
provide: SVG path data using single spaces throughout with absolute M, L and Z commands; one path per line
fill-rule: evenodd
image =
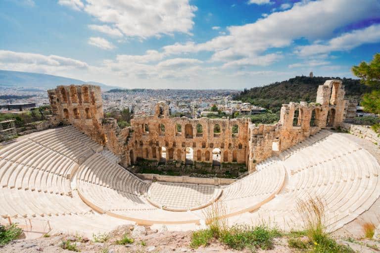
M 133 238 L 134 242 L 126 245 L 117 245 L 124 234 Z M 82 253 L 234 253 L 251 252 L 236 251 L 213 241 L 207 247 L 190 248 L 191 232 L 167 231 L 165 226 L 158 230 L 151 230 L 148 226 L 120 226 L 110 234 L 95 235 L 93 238 L 84 238 L 81 235 L 50 235 L 33 240 L 16 240 L 4 247 L 0 253 L 72 253 L 62 249 L 63 241 L 70 241 Z M 99 242 L 106 239 L 106 242 Z M 96 242 L 97 241 L 97 242 Z M 257 253 L 299 253 L 299 250 L 289 248 L 287 238 L 275 238 L 275 247 L 272 250 L 257 249 Z M 380 242 L 374 240 L 337 239 L 340 244 L 346 244 L 359 253 L 380 253 Z

